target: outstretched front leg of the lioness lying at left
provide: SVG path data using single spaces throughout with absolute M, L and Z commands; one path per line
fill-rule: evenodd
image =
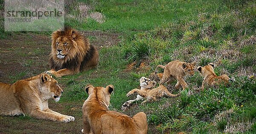
M 32 111 L 30 113 L 30 116 L 38 118 L 38 119 L 48 119 L 48 120 L 53 120 L 53 121 L 62 121 L 62 122 L 65 122 L 65 123 L 75 120 L 75 118 L 72 117 L 72 116 L 64 116 L 64 115 L 54 114 L 54 113 L 51 113 L 51 112 L 42 111 L 40 109 Z

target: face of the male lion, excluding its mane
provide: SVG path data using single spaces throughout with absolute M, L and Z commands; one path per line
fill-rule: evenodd
M 73 47 L 73 42 L 65 36 L 60 36 L 55 41 L 56 55 L 58 59 L 64 59 Z

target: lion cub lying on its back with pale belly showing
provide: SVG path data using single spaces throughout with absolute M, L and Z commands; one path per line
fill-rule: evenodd
M 130 92 L 128 92 L 126 94 L 126 96 L 129 97 L 130 95 L 133 95 L 134 93 L 137 93 L 138 95 L 137 95 L 137 98 L 135 100 L 141 100 L 141 99 L 145 98 L 146 100 L 144 100 L 142 102 L 142 104 L 144 104 L 146 102 L 156 101 L 157 98 L 161 98 L 161 97 L 164 97 L 164 96 L 174 98 L 174 97 L 177 97 L 177 96 L 180 95 L 180 94 L 173 95 L 163 85 L 160 85 L 159 87 L 154 88 L 155 86 L 156 86 L 156 81 L 151 81 L 149 78 L 141 77 L 140 78 L 140 87 L 141 87 L 141 89 L 132 89 Z M 129 107 L 130 104 L 132 102 L 134 102 L 135 100 L 126 101 L 122 105 L 122 109 L 126 109 L 127 107 Z

